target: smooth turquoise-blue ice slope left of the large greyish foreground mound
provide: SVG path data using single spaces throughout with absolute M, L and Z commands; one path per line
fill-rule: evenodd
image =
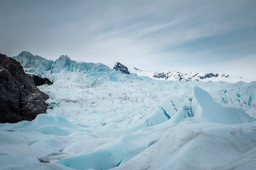
M 93 150 L 66 157 L 58 163 L 74 169 L 110 169 L 125 163 L 140 152 L 156 143 L 162 129 L 141 130 L 122 135 L 119 139 L 103 144 Z M 151 138 L 147 138 L 151 136 Z

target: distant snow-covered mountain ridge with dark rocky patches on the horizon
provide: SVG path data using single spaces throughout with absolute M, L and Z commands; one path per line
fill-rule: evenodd
M 178 81 L 226 81 L 226 82 L 250 82 L 246 78 L 230 76 L 227 74 L 213 73 L 181 73 L 176 71 L 141 71 L 135 67 L 125 66 L 119 62 L 107 61 L 104 63 L 109 68 L 119 70 L 124 74 L 137 74 L 138 76 L 147 76 L 155 80 L 178 80 Z

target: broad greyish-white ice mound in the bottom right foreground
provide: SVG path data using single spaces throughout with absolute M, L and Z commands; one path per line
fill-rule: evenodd
M 181 122 L 113 169 L 216 169 L 256 147 L 253 126 L 255 122 L 241 126 Z

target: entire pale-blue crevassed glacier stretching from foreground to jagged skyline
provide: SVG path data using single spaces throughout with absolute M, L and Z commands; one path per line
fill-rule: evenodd
M 256 81 L 161 81 L 16 57 L 47 77 L 47 114 L 0 124 L 0 169 L 255 169 Z M 48 67 L 51 65 L 51 67 Z

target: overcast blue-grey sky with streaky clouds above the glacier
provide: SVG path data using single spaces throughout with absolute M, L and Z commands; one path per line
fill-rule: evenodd
M 0 52 L 256 80 L 256 1 L 3 1 Z

